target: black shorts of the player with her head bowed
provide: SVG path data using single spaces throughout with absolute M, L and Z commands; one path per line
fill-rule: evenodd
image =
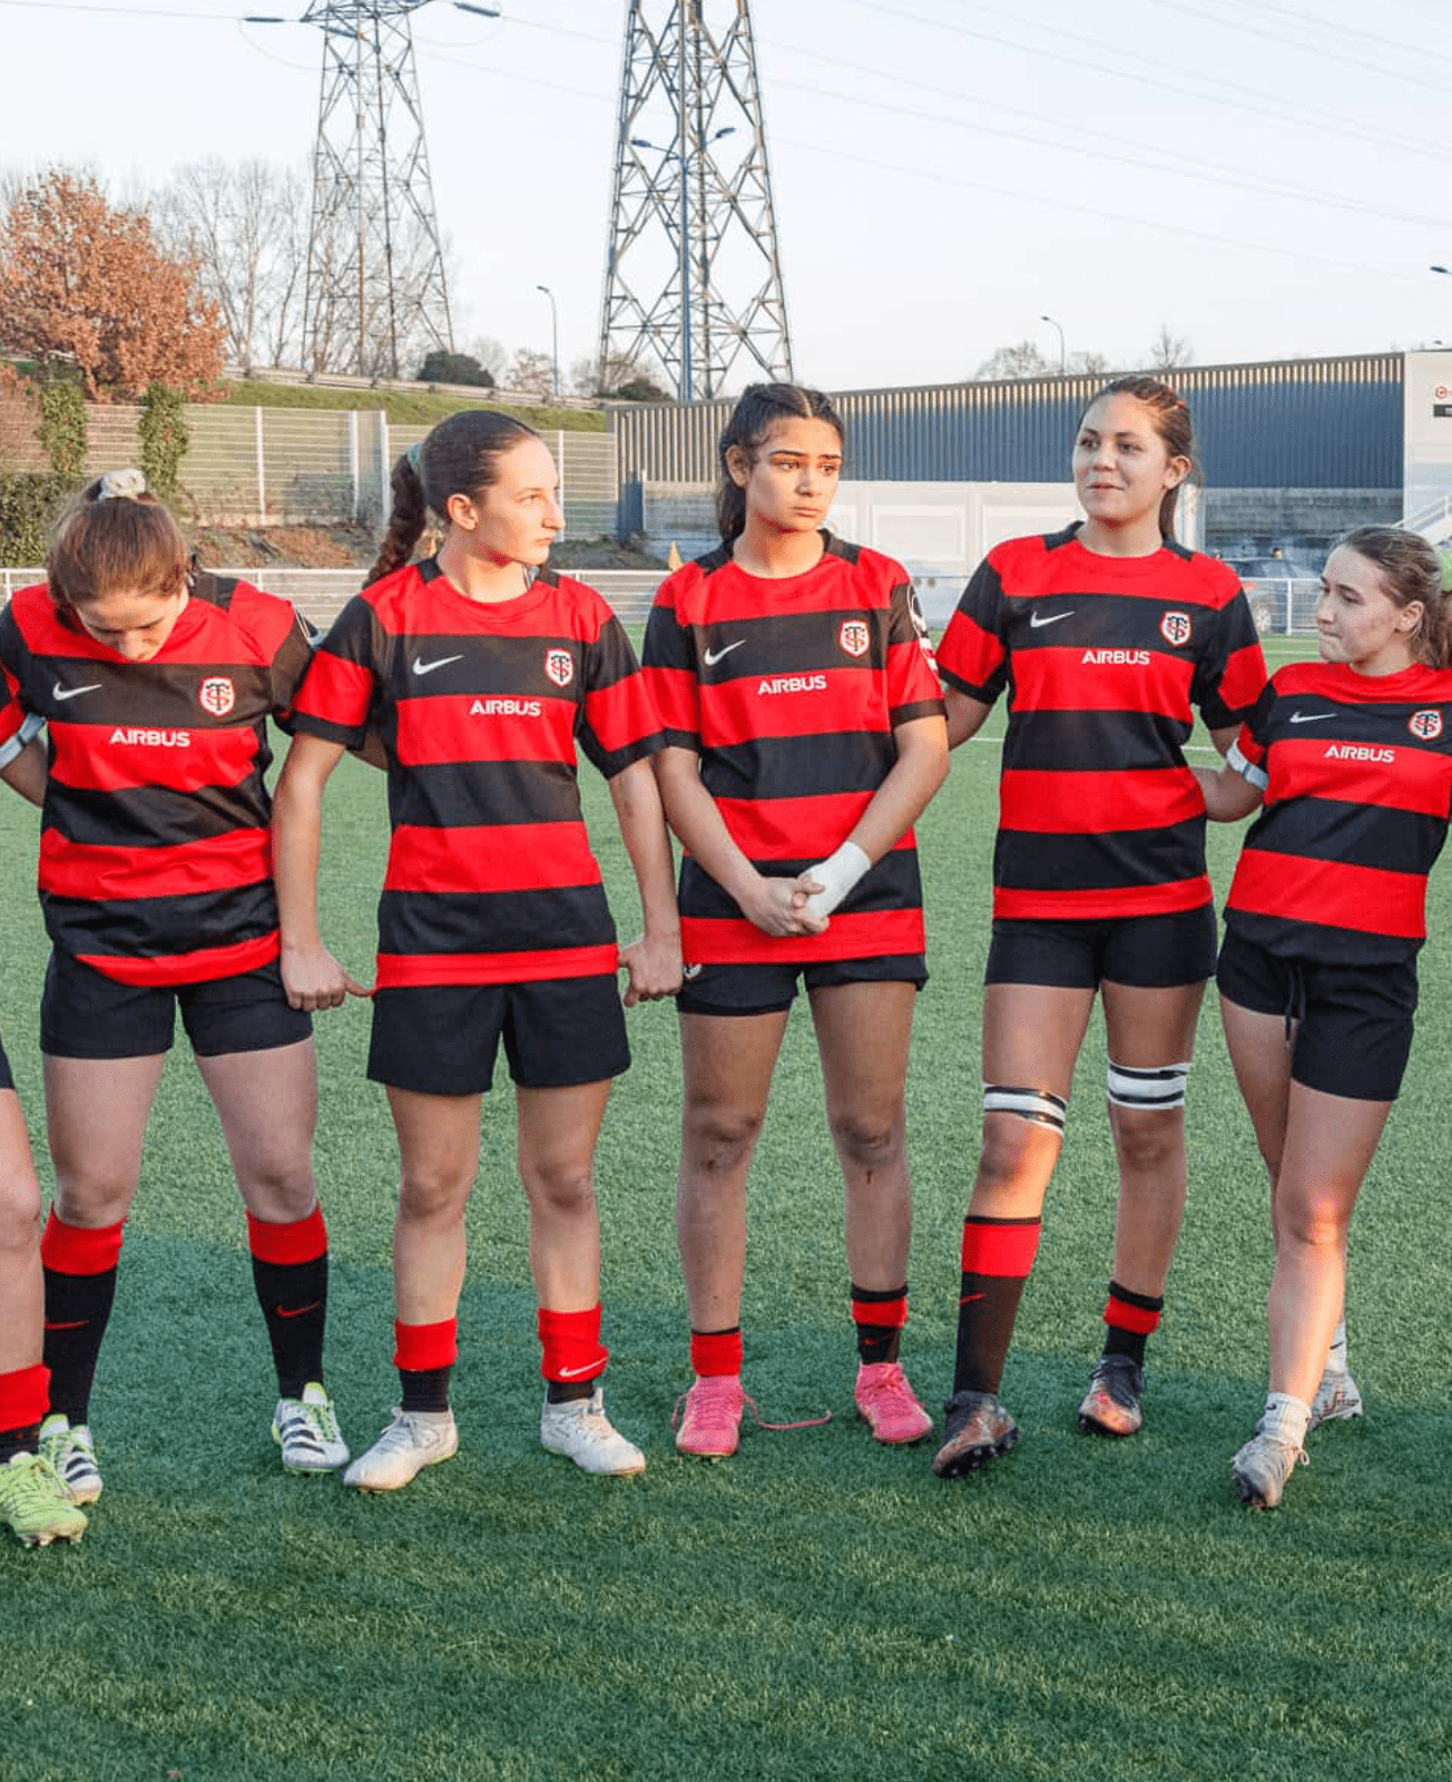
M 53 1059 L 153 1059 L 171 1051 L 178 1009 L 201 1059 L 273 1051 L 312 1034 L 312 1016 L 287 1005 L 276 960 L 205 984 L 118 984 L 57 950 L 41 994 L 41 1051 Z

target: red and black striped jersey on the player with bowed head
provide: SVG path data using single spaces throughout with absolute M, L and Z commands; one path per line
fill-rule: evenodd
M 0 743 L 46 722 L 50 939 L 123 984 L 200 984 L 278 953 L 273 759 L 312 654 L 287 601 L 198 574 L 171 636 L 126 661 L 45 584 L 0 615 Z

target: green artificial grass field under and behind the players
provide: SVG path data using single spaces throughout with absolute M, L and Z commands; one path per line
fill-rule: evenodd
M 991 725 L 1001 732 L 1001 720 Z M 905 1361 L 950 1385 L 958 1230 L 976 1155 L 978 1007 L 998 750 L 966 747 L 921 825 L 932 984 L 910 1139 Z M 590 809 L 634 921 L 608 797 Z M 372 946 L 381 784 L 330 791 L 324 907 Z M 1235 834 L 1217 834 L 1229 882 Z M 0 802 L 0 1021 L 34 1123 L 36 820 Z M 1286 1506 L 1249 1515 L 1228 1463 L 1265 1390 L 1261 1167 L 1206 1009 L 1192 1190 L 1147 1426 L 1081 1436 L 1113 1167 L 1101 1034 L 1085 1046 L 1005 1399 L 1019 1449 L 944 1484 L 852 1417 L 841 1198 L 805 1012 L 752 1178 L 746 1385 L 722 1465 L 673 1454 L 688 1385 L 672 1233 L 675 1023 L 632 1014 L 636 1064 L 599 1157 L 608 1402 L 650 1470 L 599 1481 L 536 1442 L 540 1381 L 508 1092 L 486 1105 L 461 1304 L 458 1459 L 394 1499 L 283 1477 L 242 1214 L 185 1050 L 167 1067 L 93 1402 L 105 1497 L 75 1549 L 0 1543 L 0 1775 L 201 1778 L 1363 1778 L 1452 1775 L 1447 1194 L 1452 911 L 1434 882 L 1406 1092 L 1354 1231 L 1361 1424 L 1313 1436 Z M 394 1142 L 363 1080 L 367 1010 L 319 1021 L 317 1162 L 333 1240 L 330 1383 L 355 1447 L 394 1402 Z M 103 1142 L 103 1133 L 98 1133 Z M 45 1165 L 43 1165 L 45 1176 Z

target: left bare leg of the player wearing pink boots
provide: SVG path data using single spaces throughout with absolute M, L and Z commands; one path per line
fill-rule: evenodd
M 681 1016 L 686 1078 L 675 1237 L 691 1329 L 741 1322 L 746 1171 L 752 1164 L 787 1012 Z

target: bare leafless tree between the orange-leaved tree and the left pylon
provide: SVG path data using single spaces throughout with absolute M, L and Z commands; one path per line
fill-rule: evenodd
M 239 365 L 301 364 L 306 191 L 265 160 L 187 162 L 151 200 L 157 233 L 191 255 Z

